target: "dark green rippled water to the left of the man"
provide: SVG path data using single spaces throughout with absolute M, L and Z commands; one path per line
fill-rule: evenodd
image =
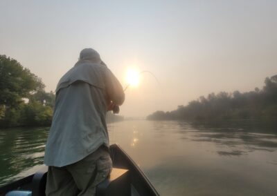
M 0 185 L 43 164 L 48 128 L 9 128 L 0 130 Z

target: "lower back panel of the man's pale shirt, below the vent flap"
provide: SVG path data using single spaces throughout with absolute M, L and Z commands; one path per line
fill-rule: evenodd
M 82 81 L 60 90 L 46 145 L 45 163 L 48 166 L 73 164 L 102 144 L 109 146 L 106 104 L 101 103 L 105 97 L 100 91 Z

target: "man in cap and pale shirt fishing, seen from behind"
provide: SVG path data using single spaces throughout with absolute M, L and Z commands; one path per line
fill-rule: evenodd
M 44 157 L 46 195 L 95 195 L 112 167 L 105 115 L 124 99 L 122 86 L 98 52 L 82 50 L 57 84 Z

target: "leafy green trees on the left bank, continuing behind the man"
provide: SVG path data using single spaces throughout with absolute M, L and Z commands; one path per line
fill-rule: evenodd
M 0 128 L 51 126 L 55 93 L 42 79 L 6 55 L 0 55 Z M 107 113 L 107 122 L 123 116 Z

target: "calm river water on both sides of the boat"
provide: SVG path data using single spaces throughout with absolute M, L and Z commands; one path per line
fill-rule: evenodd
M 161 195 L 277 195 L 277 130 L 181 121 L 109 124 Z M 0 184 L 43 164 L 48 128 L 0 130 Z

